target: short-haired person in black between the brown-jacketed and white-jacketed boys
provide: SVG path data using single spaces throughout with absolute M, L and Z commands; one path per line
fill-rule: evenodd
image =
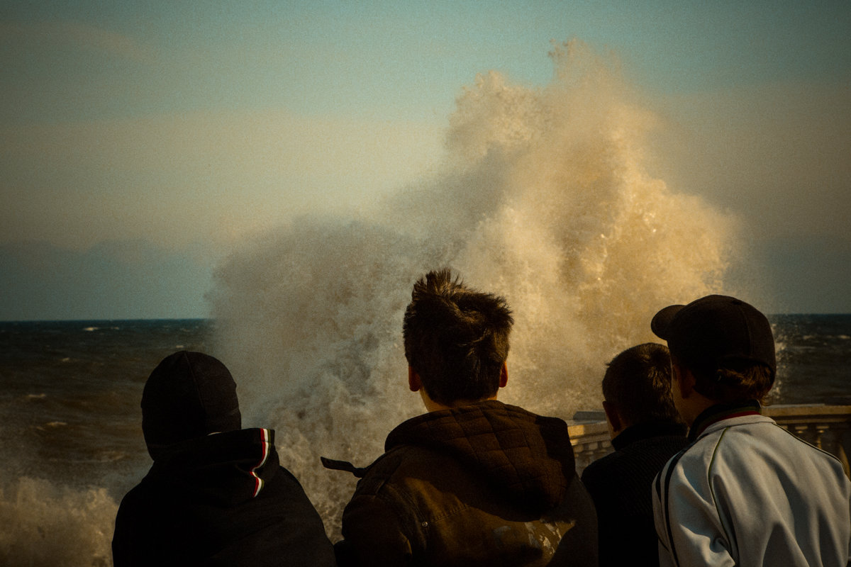
M 582 473 L 597 507 L 600 565 L 658 565 L 653 481 L 687 443 L 686 426 L 671 397 L 671 357 L 665 345 L 639 344 L 608 363 L 603 409 L 614 453 Z

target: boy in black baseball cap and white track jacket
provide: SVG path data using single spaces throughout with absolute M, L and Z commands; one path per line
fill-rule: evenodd
M 690 445 L 654 481 L 662 565 L 846 567 L 851 481 L 836 457 L 762 416 L 774 385 L 765 315 L 711 295 L 657 313 Z

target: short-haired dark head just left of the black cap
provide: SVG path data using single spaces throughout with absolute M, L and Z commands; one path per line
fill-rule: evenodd
M 680 422 L 671 396 L 671 356 L 659 343 L 638 344 L 612 359 L 603 377 L 603 398 L 629 425 Z

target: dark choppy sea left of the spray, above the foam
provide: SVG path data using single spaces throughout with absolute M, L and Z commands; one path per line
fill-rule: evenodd
M 102 475 L 137 468 L 148 374 L 175 350 L 204 351 L 209 328 L 206 320 L 0 323 L 6 476 L 103 485 Z

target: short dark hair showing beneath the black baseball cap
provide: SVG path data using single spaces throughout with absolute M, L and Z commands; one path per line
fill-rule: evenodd
M 721 368 L 689 364 L 671 353 L 677 366 L 694 376 L 694 389 L 721 404 L 750 400 L 763 403 L 774 385 L 774 369 L 748 360 L 728 360 Z

